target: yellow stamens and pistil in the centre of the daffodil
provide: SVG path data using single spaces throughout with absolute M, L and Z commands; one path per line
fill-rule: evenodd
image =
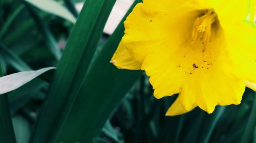
M 214 9 L 206 10 L 203 16 L 198 17 L 193 26 L 191 44 L 201 40 L 205 47 L 210 39 L 211 25 L 216 21 L 216 19 L 217 14 L 215 13 Z

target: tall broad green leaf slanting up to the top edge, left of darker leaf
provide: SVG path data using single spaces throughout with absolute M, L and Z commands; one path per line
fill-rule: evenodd
M 55 142 L 78 95 L 114 4 L 113 0 L 87 0 L 84 4 L 52 78 L 30 142 Z

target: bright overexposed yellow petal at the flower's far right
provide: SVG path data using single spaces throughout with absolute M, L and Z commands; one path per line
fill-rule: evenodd
M 223 1 L 229 3 L 229 1 Z M 234 63 L 234 72 L 241 78 L 256 82 L 256 24 L 246 21 L 255 13 L 255 1 L 232 1 L 232 4 L 219 8 L 218 18 L 224 30 L 227 47 Z M 228 6 L 227 8 L 225 8 Z M 251 6 L 251 7 L 250 7 Z M 239 11 L 238 11 L 239 9 Z M 229 16 L 227 16 L 229 15 Z M 254 16 L 253 16 L 254 17 Z

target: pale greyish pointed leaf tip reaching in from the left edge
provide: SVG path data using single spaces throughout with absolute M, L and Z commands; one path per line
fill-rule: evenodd
M 36 71 L 24 71 L 0 77 L 0 94 L 13 91 L 40 74 L 55 69 L 54 67 L 43 68 Z

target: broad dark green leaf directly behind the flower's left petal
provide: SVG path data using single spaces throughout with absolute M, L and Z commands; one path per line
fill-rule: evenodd
M 123 36 L 124 19 L 91 64 L 58 142 L 91 142 L 99 135 L 111 112 L 141 76 L 141 71 L 119 70 L 110 63 Z

